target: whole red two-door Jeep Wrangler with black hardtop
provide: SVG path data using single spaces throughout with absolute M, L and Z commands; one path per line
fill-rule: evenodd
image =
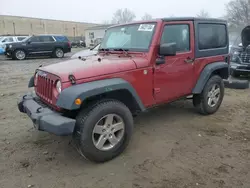
M 228 78 L 227 23 L 163 18 L 107 29 L 99 53 L 40 67 L 35 92 L 18 102 L 41 131 L 73 135 L 95 162 L 128 145 L 133 115 L 192 95 L 202 114 L 215 113 Z

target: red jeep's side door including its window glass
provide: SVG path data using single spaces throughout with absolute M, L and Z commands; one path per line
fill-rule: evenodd
M 168 22 L 162 29 L 159 44 L 176 43 L 175 56 L 160 57 L 154 65 L 154 97 L 157 103 L 188 95 L 194 85 L 193 22 Z

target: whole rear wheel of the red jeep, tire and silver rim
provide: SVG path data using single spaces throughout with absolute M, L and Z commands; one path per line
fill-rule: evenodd
M 201 94 L 193 96 L 193 104 L 199 113 L 209 115 L 215 113 L 224 97 L 224 83 L 220 76 L 212 76 Z

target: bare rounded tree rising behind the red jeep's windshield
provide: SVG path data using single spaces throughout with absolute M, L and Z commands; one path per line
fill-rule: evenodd
M 135 19 L 135 14 L 131 10 L 125 9 L 118 9 L 113 16 L 112 23 L 114 24 L 121 24 L 121 23 L 128 23 Z

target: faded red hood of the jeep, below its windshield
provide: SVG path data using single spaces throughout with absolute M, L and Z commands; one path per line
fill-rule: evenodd
M 39 68 L 39 70 L 59 76 L 62 82 L 69 81 L 69 74 L 73 74 L 76 80 L 79 80 L 133 69 L 136 69 L 136 64 L 129 57 L 99 55 L 90 56 L 85 61 L 71 59 Z

